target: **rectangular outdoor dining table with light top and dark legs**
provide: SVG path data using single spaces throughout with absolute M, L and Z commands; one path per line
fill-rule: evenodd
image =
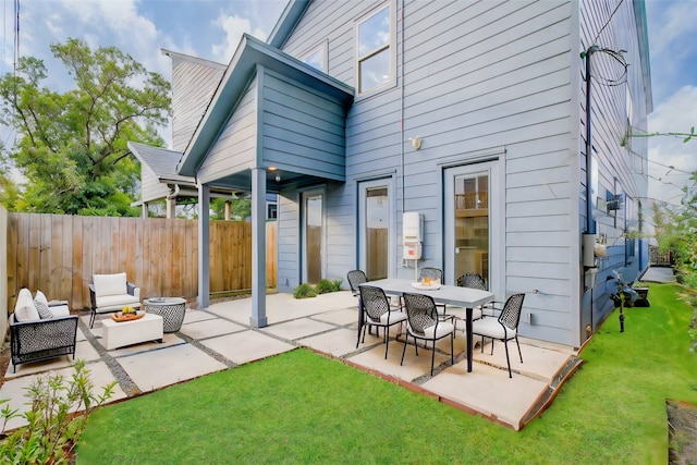
M 450 304 L 458 307 L 465 307 L 465 331 L 467 334 L 467 372 L 472 371 L 472 351 L 473 351 L 473 335 L 472 335 L 472 314 L 474 307 L 487 304 L 493 301 L 493 294 L 488 291 L 481 291 L 478 289 L 461 287 L 457 285 L 441 285 L 438 289 L 419 289 L 414 287 L 411 280 L 404 279 L 382 279 L 376 281 L 368 281 L 359 285 L 372 285 L 382 289 L 386 294 L 402 295 L 405 292 L 414 294 L 426 294 L 433 297 L 437 304 Z M 359 311 L 359 316 L 363 311 Z M 360 318 L 360 317 L 359 317 Z M 358 322 L 360 325 L 360 320 Z M 360 331 L 360 328 L 358 328 Z

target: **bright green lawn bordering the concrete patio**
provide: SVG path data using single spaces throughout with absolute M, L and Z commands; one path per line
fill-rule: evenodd
M 651 285 L 616 310 L 522 431 L 297 350 L 99 408 L 78 464 L 665 464 L 665 400 L 697 403 L 692 308 Z

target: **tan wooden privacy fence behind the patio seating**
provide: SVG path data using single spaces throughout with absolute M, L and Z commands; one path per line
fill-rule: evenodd
M 276 286 L 276 222 L 267 223 L 267 286 Z M 210 293 L 252 287 L 252 224 L 211 221 Z M 93 274 L 126 272 L 140 296 L 196 297 L 195 220 L 9 213 L 8 308 L 22 287 L 89 307 Z

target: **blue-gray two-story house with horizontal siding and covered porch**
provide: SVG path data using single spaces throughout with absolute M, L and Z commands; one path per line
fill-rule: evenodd
M 652 110 L 643 0 L 291 0 L 229 65 L 173 69 L 178 173 L 203 205 L 252 195 L 253 326 L 267 193 L 281 292 L 355 268 L 476 271 L 499 299 L 527 293 L 523 335 L 579 346 L 613 271 L 648 265 L 647 144 L 631 137 Z

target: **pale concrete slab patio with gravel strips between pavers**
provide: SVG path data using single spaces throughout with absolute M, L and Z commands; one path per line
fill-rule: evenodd
M 89 315 L 84 313 L 77 330 L 76 358 L 87 362 L 96 391 L 111 381 L 119 382 L 110 399 L 114 402 L 305 346 L 516 430 L 549 405 L 555 390 L 578 365 L 573 347 L 522 338 L 524 364 L 517 358 L 515 344 L 510 347 L 512 379 L 501 342 L 496 343 L 493 355 L 489 355 L 489 343 L 484 353 L 477 345 L 473 371 L 467 374 L 461 321 L 454 365 L 450 365 L 448 339 L 441 340 L 437 344 L 437 369 L 431 377 L 430 350 L 419 347 L 417 356 L 414 346 L 408 345 L 403 366 L 400 366 L 402 341 L 390 341 L 388 359 L 382 338 L 367 334 L 365 343 L 356 350 L 357 299 L 347 291 L 306 299 L 270 294 L 269 325 L 261 329 L 248 326 L 250 307 L 250 298 L 241 298 L 216 303 L 206 309 L 187 309 L 181 330 L 166 333 L 163 342 L 113 351 L 101 344 L 101 320 L 109 316 L 98 317 L 90 330 Z M 391 335 L 395 336 L 398 331 L 399 327 L 394 327 Z M 27 408 L 25 388 L 49 370 L 70 376 L 71 365 L 71 359 L 60 357 L 20 365 L 16 374 L 10 365 L 0 387 L 0 399 L 10 399 L 13 408 Z M 8 429 L 22 421 L 22 418 L 12 420 Z

